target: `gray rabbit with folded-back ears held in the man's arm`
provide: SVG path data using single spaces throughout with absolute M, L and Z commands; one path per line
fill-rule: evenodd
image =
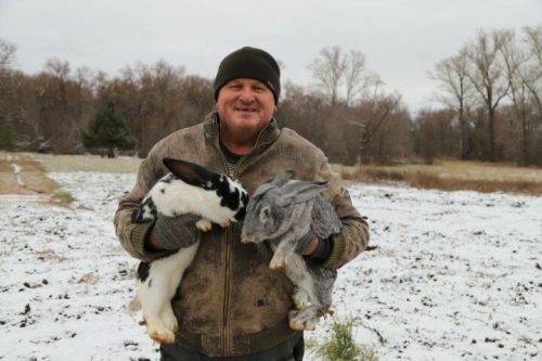
M 269 241 L 274 252 L 271 270 L 285 270 L 295 285 L 297 310 L 289 313 L 294 330 L 314 330 L 320 317 L 333 313 L 333 284 L 337 270 L 306 262 L 296 253 L 301 243 L 309 244 L 314 235 L 325 240 L 340 232 L 341 222 L 334 207 L 320 194 L 327 183 L 292 179 L 292 170 L 278 173 L 259 186 L 246 208 L 241 240 L 259 244 Z

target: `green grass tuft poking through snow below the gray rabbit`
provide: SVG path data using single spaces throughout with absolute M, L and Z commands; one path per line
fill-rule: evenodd
M 350 319 L 334 318 L 332 334 L 317 347 L 317 353 L 324 361 L 378 361 L 372 349 L 356 344 L 354 336 Z

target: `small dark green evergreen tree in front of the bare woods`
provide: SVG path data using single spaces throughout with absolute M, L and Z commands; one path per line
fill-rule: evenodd
M 136 139 L 128 129 L 125 118 L 117 112 L 113 101 L 107 102 L 105 109 L 96 113 L 82 131 L 82 144 L 87 149 L 107 147 L 107 157 L 115 157 L 115 147 L 133 150 Z

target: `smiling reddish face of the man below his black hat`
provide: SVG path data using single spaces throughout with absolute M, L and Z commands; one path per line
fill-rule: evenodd
M 257 137 L 276 111 L 271 90 L 255 79 L 234 79 L 218 93 L 221 124 L 233 133 Z

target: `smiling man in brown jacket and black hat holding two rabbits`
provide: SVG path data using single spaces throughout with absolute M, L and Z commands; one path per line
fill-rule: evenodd
M 241 243 L 242 224 L 209 232 L 194 217 L 158 217 L 133 224 L 131 214 L 154 183 L 167 173 L 164 157 L 182 158 L 237 178 L 249 194 L 282 170 L 296 178 L 327 181 L 323 195 L 343 222 L 339 234 L 314 237 L 301 253 L 310 262 L 340 268 L 369 243 L 369 227 L 325 155 L 273 114 L 281 92 L 280 68 L 267 52 L 242 48 L 223 59 L 215 79 L 217 112 L 194 127 L 158 142 L 142 163 L 132 192 L 119 202 L 115 227 L 130 255 L 151 261 L 188 247 L 201 237 L 192 266 L 172 299 L 179 321 L 176 344 L 160 347 L 162 360 L 302 360 L 302 332 L 291 330 L 293 286 L 284 272 L 271 271 L 271 252 Z

